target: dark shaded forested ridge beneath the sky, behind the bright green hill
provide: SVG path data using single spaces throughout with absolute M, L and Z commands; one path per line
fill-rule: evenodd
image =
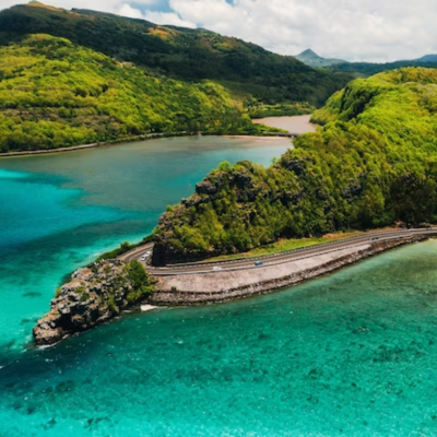
M 318 71 L 293 57 L 205 29 L 160 26 L 86 10 L 64 11 L 38 2 L 0 12 L 0 44 L 22 35 L 49 34 L 98 52 L 146 67 L 155 75 L 222 82 L 235 94 L 275 104 L 321 105 L 351 75 Z

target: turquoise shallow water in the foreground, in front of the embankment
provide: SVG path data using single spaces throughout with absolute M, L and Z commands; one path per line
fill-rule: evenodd
M 0 435 L 436 435 L 436 253 L 28 351 L 0 370 Z

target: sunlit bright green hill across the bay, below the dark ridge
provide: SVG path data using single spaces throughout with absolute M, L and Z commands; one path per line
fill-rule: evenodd
M 210 81 L 153 78 L 49 35 L 0 47 L 0 152 L 147 132 L 257 129 L 243 105 Z

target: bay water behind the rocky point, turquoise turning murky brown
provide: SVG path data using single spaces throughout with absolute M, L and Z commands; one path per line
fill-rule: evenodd
M 224 160 L 270 164 L 286 139 L 179 138 L 0 161 L 0 366 L 31 341 L 62 279 L 140 240 Z

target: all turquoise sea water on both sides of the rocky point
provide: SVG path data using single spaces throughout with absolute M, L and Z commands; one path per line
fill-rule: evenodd
M 62 276 L 152 228 L 160 197 L 186 196 L 224 155 L 281 153 L 211 140 L 209 153 L 186 140 L 95 150 L 94 165 L 68 163 L 75 154 L 0 162 L 1 198 L 17 196 L 0 203 L 0 436 L 437 435 L 435 240 L 269 296 L 132 312 L 52 349 L 26 343 L 27 319 Z

